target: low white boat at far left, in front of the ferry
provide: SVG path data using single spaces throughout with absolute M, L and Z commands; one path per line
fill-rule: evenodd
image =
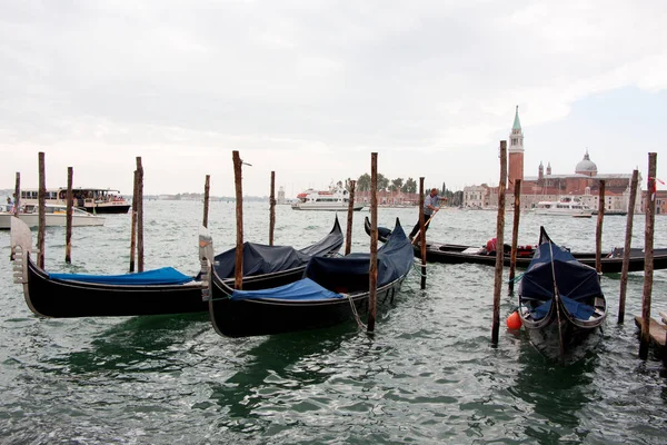
M 47 204 L 44 210 L 47 227 L 67 226 L 67 206 Z M 11 218 L 13 218 L 13 211 L 8 211 L 8 207 L 6 205 L 0 208 L 0 229 L 11 228 Z M 31 204 L 22 206 L 21 211 L 19 211 L 19 219 L 26 222 L 29 227 L 37 227 L 39 225 L 38 206 Z M 72 207 L 72 227 L 103 225 L 103 217 Z

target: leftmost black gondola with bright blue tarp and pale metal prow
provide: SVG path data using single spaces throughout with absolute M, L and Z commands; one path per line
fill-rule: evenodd
M 32 260 L 28 226 L 12 218 L 11 243 L 17 246 L 14 277 L 23 285 L 28 307 L 42 317 L 112 317 L 207 312 L 201 274 L 185 275 L 171 267 L 138 274 L 51 274 Z M 301 278 L 312 256 L 337 253 L 342 246 L 338 217 L 334 228 L 312 246 L 297 250 L 286 246 L 243 244 L 247 289 L 275 287 Z M 208 249 L 212 253 L 212 246 Z M 215 257 L 222 280 L 233 280 L 236 248 Z

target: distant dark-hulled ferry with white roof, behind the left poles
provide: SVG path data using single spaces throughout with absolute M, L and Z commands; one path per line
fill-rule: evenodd
M 21 190 L 21 204 L 39 205 L 38 189 Z M 130 209 L 120 191 L 109 188 L 74 188 L 74 207 L 91 214 L 127 214 Z M 67 206 L 67 188 L 47 189 L 47 204 Z

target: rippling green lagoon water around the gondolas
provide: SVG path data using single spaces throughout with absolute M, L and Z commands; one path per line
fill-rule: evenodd
M 213 202 L 216 251 L 235 244 L 233 204 Z M 352 249 L 368 249 L 355 214 Z M 415 222 L 414 209 L 380 209 L 380 224 Z M 146 202 L 146 267 L 195 275 L 200 202 Z M 268 239 L 268 205 L 245 208 L 246 237 Z M 346 215 L 339 215 L 345 230 Z M 520 243 L 539 225 L 556 243 L 594 250 L 596 219 L 522 215 Z M 277 244 L 321 238 L 334 214 L 277 208 Z M 129 215 L 76 228 L 72 266 L 64 230 L 47 234 L 48 270 L 122 273 Z M 511 234 L 511 217 L 506 229 Z M 625 217 L 605 221 L 604 248 L 621 246 Z M 644 244 L 644 216 L 634 246 Z M 656 247 L 667 247 L 667 219 Z M 482 245 L 492 211 L 441 211 L 430 239 Z M 332 329 L 271 337 L 218 336 L 207 314 L 40 319 L 11 283 L 9 234 L 0 233 L 0 443 L 8 444 L 469 444 L 667 443 L 667 372 L 638 359 L 633 323 L 643 274 L 631 274 L 625 325 L 616 324 L 619 276 L 603 277 L 609 318 L 581 362 L 546 362 L 524 332 L 502 325 L 490 344 L 494 269 L 430 265 L 427 289 L 410 274 L 368 336 L 354 320 Z M 507 270 L 506 270 L 507 277 Z M 667 273 L 655 273 L 654 313 L 667 309 Z M 502 290 L 501 320 L 516 298 Z

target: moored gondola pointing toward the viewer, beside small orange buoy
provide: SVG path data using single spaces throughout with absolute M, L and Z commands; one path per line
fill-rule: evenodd
M 581 358 L 607 317 L 597 271 L 556 245 L 540 227 L 539 245 L 518 288 L 519 316 L 530 342 L 546 357 Z

